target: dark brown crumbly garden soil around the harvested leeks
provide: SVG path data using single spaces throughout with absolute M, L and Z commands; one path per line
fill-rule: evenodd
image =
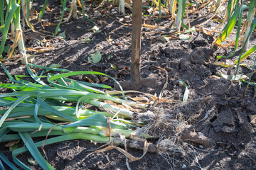
M 117 8 L 108 8 L 107 4 L 100 8 L 100 12 L 92 13 L 88 5 L 87 11 L 92 21 L 100 28 L 99 33 L 90 30 L 95 26 L 86 18 L 78 16 L 78 19 L 70 18 L 70 21 L 60 26 L 60 33 L 65 30 L 66 38 L 51 36 L 40 36 L 26 28 L 27 47 L 55 47 L 54 50 L 46 52 L 29 52 L 34 56 L 33 64 L 50 65 L 60 64 L 61 68 L 72 71 L 97 71 L 114 77 L 118 81 L 130 79 L 130 57 L 132 38 L 131 11 L 126 9 L 127 15 L 119 14 Z M 40 11 L 43 1 L 35 1 L 33 8 Z M 50 11 L 46 11 L 43 19 L 48 18 L 50 26 L 41 26 L 43 23 L 32 21 L 36 30 L 44 29 L 54 32 L 56 23 L 54 17 L 60 16 L 61 6 L 57 1 L 49 1 Z M 109 9 L 109 11 L 107 11 Z M 80 10 L 80 8 L 78 8 Z M 55 14 L 57 13 L 57 14 Z M 196 18 L 191 26 L 206 21 L 204 18 Z M 157 26 L 168 26 L 172 23 L 171 18 L 161 18 L 154 23 L 154 19 L 144 17 L 144 22 Z M 122 22 L 122 23 L 120 23 Z M 172 23 L 175 25 L 176 23 Z M 218 26 L 215 21 L 209 21 L 204 28 L 212 29 Z M 172 39 L 167 42 L 156 40 L 157 35 L 166 33 L 174 28 L 143 28 L 142 33 L 142 78 L 156 78 L 158 87 L 156 89 L 142 88 L 140 91 L 159 96 L 166 79 L 168 85 L 163 91 L 162 98 L 169 100 L 181 100 L 185 91 L 179 80 L 187 85 L 189 94 L 185 103 L 162 103 L 165 115 L 177 117 L 188 125 L 193 132 L 198 132 L 210 139 L 210 145 L 203 146 L 188 141 L 189 145 L 196 147 L 196 158 L 187 162 L 182 155 L 169 155 L 175 158 L 175 162 L 166 161 L 160 154 L 147 153 L 142 159 L 136 162 L 129 162 L 131 169 L 256 169 L 256 125 L 250 123 L 248 115 L 256 114 L 256 99 L 254 98 L 253 86 L 247 88 L 247 84 L 231 82 L 220 78 L 223 74 L 235 74 L 236 67 L 225 68 L 216 66 L 217 55 L 227 55 L 233 50 L 232 47 L 211 48 L 213 37 L 201 31 L 193 32 L 190 40 Z M 155 33 L 153 33 L 155 31 Z M 41 31 L 42 32 L 42 31 Z M 37 40 L 41 40 L 38 42 Z M 83 40 L 90 38 L 92 41 Z M 107 38 L 109 38 L 107 40 Z M 111 38 L 111 40 L 110 40 Z M 250 38 L 250 47 L 256 43 L 256 35 Z M 11 45 L 11 42 L 7 42 Z M 102 59 L 96 64 L 88 63 L 87 57 L 96 50 L 100 50 Z M 254 56 L 253 54 L 251 56 Z M 235 61 L 235 57 L 223 62 Z M 249 57 L 245 63 L 252 64 L 253 58 Z M 5 62 L 6 68 L 11 75 L 28 75 L 26 67 L 21 62 Z M 117 66 L 113 69 L 112 65 Z M 161 67 L 166 73 L 157 68 Z M 0 68 L 0 82 L 9 82 L 4 69 Z M 250 73 L 249 69 L 240 67 L 238 73 Z M 102 83 L 102 77 L 87 76 L 96 83 Z M 75 77 L 80 80 L 87 80 L 85 77 Z M 104 84 L 114 86 L 110 79 Z M 1 89 L 1 93 L 6 93 Z M 207 115 L 207 118 L 206 118 Z M 166 128 L 164 134 L 171 134 L 171 128 Z M 157 140 L 150 142 L 156 143 Z M 90 152 L 90 149 L 97 149 L 102 144 L 95 144 L 85 140 L 73 140 L 59 142 L 44 147 L 48 161 L 54 169 L 127 169 L 125 156 L 117 150 L 92 154 L 89 158 L 82 160 Z M 1 151 L 11 159 L 11 152 L 4 145 L 0 146 Z M 129 149 L 130 154 L 140 157 L 142 151 Z M 40 166 L 29 164 L 27 158 L 31 154 L 24 153 L 18 156 L 22 162 L 31 169 L 41 169 Z

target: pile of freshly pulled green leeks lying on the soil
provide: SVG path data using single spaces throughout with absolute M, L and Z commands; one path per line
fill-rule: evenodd
M 2 66 L 4 67 L 3 64 Z M 66 73 L 55 75 L 48 73 L 47 76 L 38 76 L 32 72 L 29 66 L 45 69 L 44 72 L 53 70 Z M 21 147 L 12 152 L 14 162 L 23 169 L 28 169 L 28 166 L 20 162 L 16 156 L 27 150 L 31 152 L 43 169 L 53 169 L 37 147 L 74 139 L 107 143 L 110 139 L 107 134 L 110 136 L 122 134 L 125 137 L 130 137 L 134 134 L 134 128 L 137 128 L 137 125 L 144 125 L 142 121 L 135 121 L 143 120 L 140 118 L 140 113 L 134 113 L 129 108 L 146 108 L 147 103 L 127 101 L 107 94 L 98 89 L 112 89 L 104 84 L 89 84 L 67 78 L 80 74 L 107 76 L 106 74 L 70 72 L 67 69 L 41 67 L 35 64 L 28 64 L 27 69 L 35 83 L 22 79 L 28 76 L 16 75 L 12 77 L 4 67 L 6 74 L 13 83 L 0 84 L 1 88 L 14 90 L 13 93 L 0 95 L 0 106 L 9 107 L 0 111 L 0 142 L 23 141 L 26 148 Z M 46 78 L 48 83 L 41 80 Z M 76 106 L 66 104 L 70 102 L 76 103 Z M 84 109 L 82 103 L 96 106 L 102 111 Z M 119 107 L 121 105 L 127 108 Z M 53 120 L 59 121 L 59 123 L 54 123 Z M 108 132 L 109 130 L 111 133 Z M 48 136 L 56 137 L 36 144 L 32 140 L 33 137 L 43 136 L 46 138 Z M 146 134 L 143 136 L 150 137 Z M 112 138 L 112 140 L 114 139 L 116 138 Z M 0 160 L 7 162 L 10 167 L 14 166 L 4 158 L 3 154 L 0 154 Z M 1 164 L 0 167 L 2 167 Z

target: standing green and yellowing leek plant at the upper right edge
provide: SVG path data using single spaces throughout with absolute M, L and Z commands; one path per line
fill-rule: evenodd
M 256 18 L 253 18 L 255 14 L 256 1 L 255 0 L 250 1 L 250 4 L 245 4 L 245 2 L 246 1 L 242 1 L 242 4 L 239 5 L 239 1 L 228 1 L 228 23 L 225 25 L 220 35 L 218 35 L 218 38 L 215 40 L 215 45 L 220 45 L 220 43 L 223 42 L 223 40 L 225 40 L 228 37 L 228 35 L 230 35 L 231 31 L 235 28 L 235 24 L 238 23 L 238 28 L 237 28 L 236 38 L 235 38 L 235 47 L 233 52 L 231 52 L 230 55 L 228 56 L 222 56 L 222 55 L 217 56 L 217 59 L 233 57 L 233 55 L 235 55 L 235 52 L 238 48 L 238 43 L 241 42 L 242 40 L 242 49 L 238 57 L 238 60 L 233 62 L 233 64 L 225 64 L 224 62 L 219 62 L 219 61 L 214 62 L 213 64 L 220 65 L 223 67 L 232 67 L 237 64 L 235 75 L 230 76 L 232 78 L 226 75 L 225 77 L 228 77 L 227 79 L 230 79 L 230 81 L 239 80 L 239 81 L 244 81 L 245 83 L 247 83 L 247 85 L 256 86 L 255 83 L 250 82 L 252 79 L 252 74 L 254 73 L 256 60 L 254 60 L 254 63 L 252 66 L 252 72 L 250 75 L 244 75 L 244 74 L 238 75 L 238 68 L 240 66 L 240 62 L 242 60 L 245 60 L 249 55 L 252 54 L 252 52 L 255 52 L 256 50 L 256 45 L 251 47 L 250 50 L 247 50 L 247 45 L 249 43 L 250 35 L 252 34 L 256 26 Z M 247 14 L 247 20 L 243 25 L 244 26 L 243 30 L 245 30 L 245 32 L 244 32 L 244 37 L 241 38 L 243 34 L 243 32 L 242 33 L 240 32 L 241 25 L 242 25 L 242 11 L 244 11 L 247 8 L 249 8 L 249 11 Z M 220 74 L 220 75 L 224 75 L 224 74 Z

